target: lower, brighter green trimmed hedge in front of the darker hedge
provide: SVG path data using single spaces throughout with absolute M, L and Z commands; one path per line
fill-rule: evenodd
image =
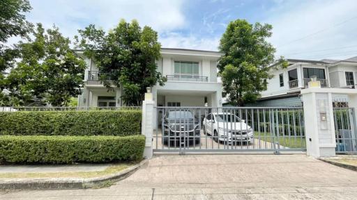
M 144 135 L 0 136 L 1 163 L 107 163 L 139 160 Z

